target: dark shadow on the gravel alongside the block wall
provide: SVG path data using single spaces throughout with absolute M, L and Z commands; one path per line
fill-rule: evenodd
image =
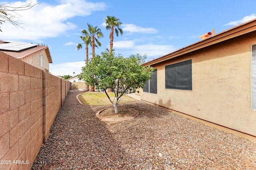
M 106 122 L 96 118 L 95 113 L 106 106 L 81 105 L 76 100 L 79 93 L 69 92 L 32 170 L 115 169 L 134 161 L 112 137 Z

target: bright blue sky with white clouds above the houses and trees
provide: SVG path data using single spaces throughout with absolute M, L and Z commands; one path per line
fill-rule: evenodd
M 18 12 L 23 28 L 8 22 L 0 25 L 0 39 L 48 45 L 50 72 L 60 76 L 80 74 L 85 65 L 85 46 L 77 51 L 76 45 L 82 43 L 81 31 L 88 29 L 87 23 L 104 34 L 95 53 L 109 48 L 107 16 L 123 23 L 123 35 L 114 36 L 115 53 L 146 54 L 147 61 L 200 41 L 199 36 L 213 28 L 216 34 L 256 18 L 255 0 L 11 0 L 0 4 L 17 7 L 29 2 L 42 3 Z

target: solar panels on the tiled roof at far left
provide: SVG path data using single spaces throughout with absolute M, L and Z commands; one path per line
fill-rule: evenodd
M 2 42 L 8 42 L 8 41 L 2 41 Z M 31 44 L 31 43 L 12 41 L 8 43 L 0 44 L 0 50 L 20 51 L 20 50 L 28 49 L 30 47 L 35 47 L 35 46 L 37 45 Z

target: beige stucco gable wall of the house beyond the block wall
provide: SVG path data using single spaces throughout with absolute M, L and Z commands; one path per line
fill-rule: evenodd
M 41 67 L 41 56 L 43 57 L 43 66 Z M 23 58 L 22 61 L 25 63 L 31 64 L 32 66 L 35 66 L 40 69 L 46 68 L 49 70 L 49 61 L 46 55 L 45 50 L 42 50 L 38 53 L 32 54 L 26 58 Z

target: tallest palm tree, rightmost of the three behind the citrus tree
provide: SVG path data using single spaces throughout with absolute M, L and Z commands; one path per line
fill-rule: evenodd
M 118 37 L 119 32 L 122 35 L 123 34 L 123 30 L 120 28 L 120 26 L 123 24 L 122 22 L 120 22 L 120 20 L 114 16 L 107 16 L 107 18 L 105 18 L 105 23 L 106 23 L 106 29 L 110 29 L 110 53 L 112 53 L 112 49 L 113 49 L 113 40 L 114 40 L 114 27 L 115 27 L 115 33 L 116 36 Z

